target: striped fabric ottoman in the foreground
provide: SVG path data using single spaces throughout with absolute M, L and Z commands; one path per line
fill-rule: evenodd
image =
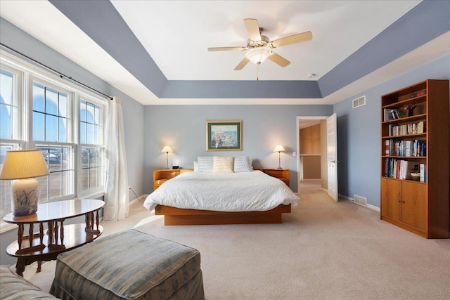
M 205 299 L 200 252 L 125 230 L 58 255 L 60 299 Z

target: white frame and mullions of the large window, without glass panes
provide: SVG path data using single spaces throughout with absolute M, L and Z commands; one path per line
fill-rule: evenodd
M 72 147 L 73 159 L 72 164 L 74 168 L 73 172 L 73 193 L 71 195 L 56 197 L 55 199 L 49 199 L 49 202 L 68 200 L 68 199 L 81 199 L 81 198 L 98 198 L 104 195 L 105 186 L 105 119 L 108 114 L 108 98 L 104 96 L 98 96 L 96 93 L 89 91 L 88 89 L 79 86 L 75 83 L 63 79 L 59 74 L 53 74 L 49 70 L 45 70 L 43 67 L 34 65 L 33 63 L 23 60 L 18 56 L 14 56 L 11 53 L 0 49 L 0 63 L 1 69 L 16 74 L 16 100 L 17 100 L 17 127 L 16 132 L 13 133 L 12 139 L 1 138 L 1 144 L 14 144 L 14 150 L 19 149 L 34 149 L 40 145 L 57 145 Z M 68 94 L 68 117 L 71 119 L 70 129 L 68 130 L 67 142 L 50 142 L 50 141 L 33 141 L 32 137 L 32 124 L 33 124 L 33 83 L 36 81 L 44 86 L 49 86 L 52 89 L 63 91 Z M 101 145 L 96 144 L 81 144 L 79 140 L 79 103 L 80 101 L 87 101 L 101 107 Z M 14 136 L 15 135 L 15 136 Z M 70 136 L 70 137 L 69 137 Z M 82 157 L 81 149 L 84 145 L 89 145 L 96 148 L 101 148 L 103 151 L 102 161 L 102 179 L 101 185 L 94 189 L 81 190 L 81 176 L 82 176 Z M 45 203 L 45 202 L 41 202 Z M 10 211 L 8 211 L 10 212 Z M 4 226 L 6 223 L 0 221 L 0 233 L 3 233 L 6 229 Z

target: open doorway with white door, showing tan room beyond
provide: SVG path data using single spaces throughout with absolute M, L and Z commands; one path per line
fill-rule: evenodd
M 323 190 L 338 201 L 335 114 L 297 117 L 298 192 Z

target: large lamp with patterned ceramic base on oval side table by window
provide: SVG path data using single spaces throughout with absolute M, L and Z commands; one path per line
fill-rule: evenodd
M 6 152 L 0 179 L 15 180 L 11 185 L 11 210 L 14 216 L 28 216 L 37 211 L 39 181 L 32 177 L 46 175 L 49 175 L 49 168 L 41 150 Z

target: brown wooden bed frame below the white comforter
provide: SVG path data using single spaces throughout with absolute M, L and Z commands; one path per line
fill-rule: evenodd
M 280 204 L 268 211 L 223 212 L 179 209 L 156 205 L 155 215 L 164 216 L 164 225 L 219 225 L 282 223 L 281 214 L 290 213 L 290 204 Z

